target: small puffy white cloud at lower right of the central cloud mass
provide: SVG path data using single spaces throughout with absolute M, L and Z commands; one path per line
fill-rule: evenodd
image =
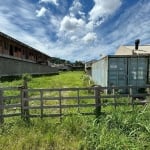
M 97 35 L 94 32 L 89 32 L 82 38 L 82 40 L 85 43 L 96 41 L 96 39 L 97 39 Z

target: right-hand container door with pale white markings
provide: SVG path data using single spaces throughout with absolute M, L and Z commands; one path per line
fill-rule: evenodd
M 146 57 L 128 58 L 128 85 L 144 86 L 147 84 L 147 61 Z

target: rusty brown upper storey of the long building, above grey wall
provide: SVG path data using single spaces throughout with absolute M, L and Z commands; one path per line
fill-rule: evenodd
M 0 32 L 0 56 L 47 64 L 50 56 Z

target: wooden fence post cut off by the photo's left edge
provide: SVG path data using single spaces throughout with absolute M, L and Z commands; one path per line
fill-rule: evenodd
M 4 101 L 3 101 L 3 91 L 0 89 L 0 124 L 4 123 Z

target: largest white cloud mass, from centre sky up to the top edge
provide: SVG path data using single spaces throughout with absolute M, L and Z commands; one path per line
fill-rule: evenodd
M 73 1 L 72 6 L 69 8 L 70 16 L 64 16 L 60 23 L 57 35 L 61 40 L 71 40 L 76 44 L 81 43 L 81 41 L 84 42 L 81 44 L 87 44 L 97 40 L 97 34 L 94 32 L 95 27 L 99 26 L 99 23 L 104 21 L 106 16 L 115 12 L 121 2 L 120 0 L 114 0 L 113 2 L 111 0 L 94 1 L 95 5 L 89 12 L 89 18 L 85 18 L 81 2 L 79 0 Z

